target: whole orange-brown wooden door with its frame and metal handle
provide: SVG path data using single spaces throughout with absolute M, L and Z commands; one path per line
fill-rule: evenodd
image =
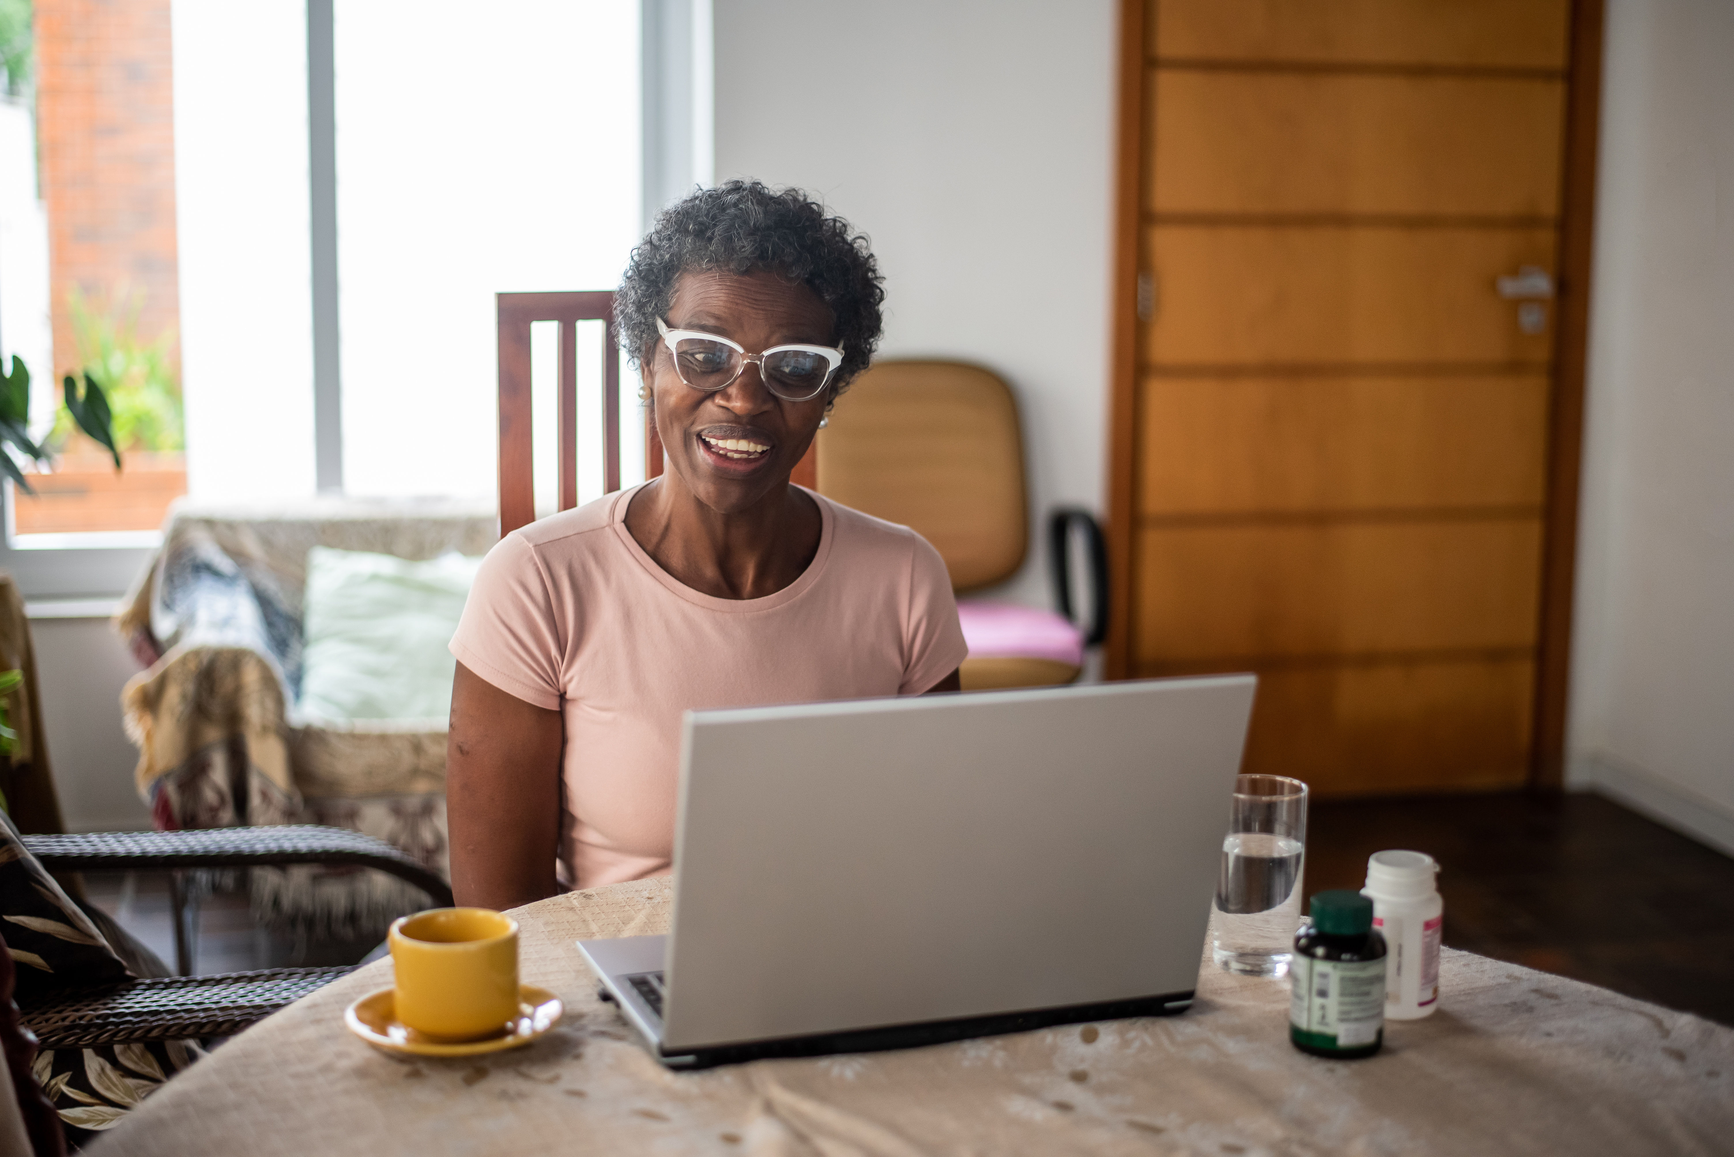
M 1110 672 L 1255 670 L 1247 771 L 1321 793 L 1529 781 L 1564 701 L 1599 10 L 1125 14 Z

